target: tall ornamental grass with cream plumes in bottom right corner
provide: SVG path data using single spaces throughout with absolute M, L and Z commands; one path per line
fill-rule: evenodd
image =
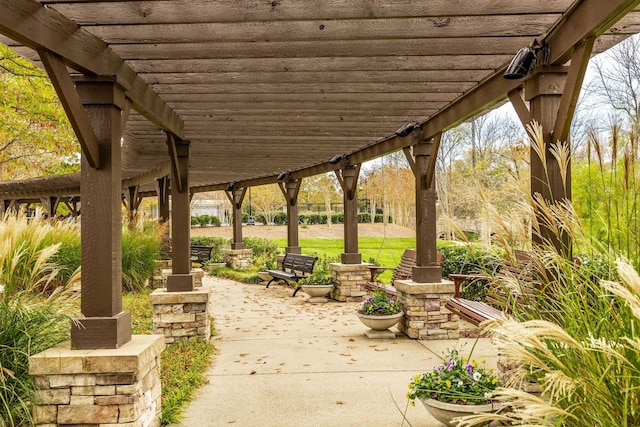
M 619 147 L 619 138 L 615 144 Z M 601 146 L 594 145 L 593 150 L 600 153 L 597 158 L 605 158 Z M 550 152 L 559 156 L 562 150 Z M 603 163 L 598 168 L 609 169 Z M 631 166 L 627 168 L 631 174 Z M 618 171 L 611 173 L 605 181 L 621 182 Z M 635 180 L 631 175 L 624 179 Z M 640 425 L 640 276 L 629 260 L 619 256 L 620 236 L 605 233 L 603 241 L 595 239 L 567 200 L 552 203 L 534 196 L 528 202 L 534 232 L 545 227 L 557 238 L 568 235 L 574 251 L 586 256 L 576 260 L 558 253 L 553 238 L 531 249 L 529 277 L 534 278 L 536 290 L 505 301 L 509 319 L 482 325 L 510 369 L 497 396 L 507 409 L 466 417 L 459 425 L 490 420 L 527 426 Z M 602 212 L 602 217 L 613 226 L 626 211 L 615 209 L 613 198 L 607 203 L 614 209 Z M 500 280 L 513 295 L 525 279 Z M 523 391 L 529 383 L 542 392 Z

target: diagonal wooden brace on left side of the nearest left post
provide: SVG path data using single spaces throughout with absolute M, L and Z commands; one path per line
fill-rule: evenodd
M 82 106 L 73 80 L 71 80 L 71 76 L 67 72 L 67 67 L 62 63 L 60 57 L 52 55 L 44 49 L 38 49 L 38 54 L 67 113 L 67 117 L 69 117 L 69 122 L 71 122 L 71 127 L 73 127 L 78 137 L 87 162 L 92 168 L 99 168 L 100 151 L 98 150 L 98 139 Z

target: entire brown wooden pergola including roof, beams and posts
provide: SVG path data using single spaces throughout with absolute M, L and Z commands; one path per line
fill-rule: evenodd
M 82 147 L 80 174 L 4 182 L 0 199 L 43 200 L 55 211 L 80 196 L 86 319 L 72 328 L 76 348 L 131 337 L 121 304 L 123 192 L 130 209 L 158 197 L 165 218 L 171 195 L 168 288 L 192 289 L 190 194 L 227 192 L 233 246 L 242 248 L 246 189 L 279 183 L 287 251 L 300 252 L 300 182 L 335 171 L 342 262 L 357 264 L 360 165 L 403 149 L 416 176 L 413 280 L 439 281 L 433 173 L 442 133 L 508 99 L 523 123 L 541 123 L 546 142 L 566 140 L 589 57 L 638 32 L 638 3 L 0 0 L 0 42 L 47 70 Z M 540 48 L 533 70 L 504 79 L 523 47 Z M 548 199 L 571 197 L 557 167 L 535 156 L 531 182 Z

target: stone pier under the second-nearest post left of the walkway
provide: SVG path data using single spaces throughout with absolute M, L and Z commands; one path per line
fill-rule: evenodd
M 211 337 L 210 289 L 167 292 L 156 289 L 149 296 L 153 304 L 153 333 L 171 344 L 181 339 L 206 341 Z

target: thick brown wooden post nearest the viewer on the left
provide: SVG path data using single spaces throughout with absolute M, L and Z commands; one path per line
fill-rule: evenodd
M 122 311 L 121 111 L 124 91 L 109 78 L 81 79 L 76 88 L 97 137 L 100 168 L 81 158 L 82 297 L 85 318 L 71 326 L 75 349 L 118 348 L 131 340 Z

